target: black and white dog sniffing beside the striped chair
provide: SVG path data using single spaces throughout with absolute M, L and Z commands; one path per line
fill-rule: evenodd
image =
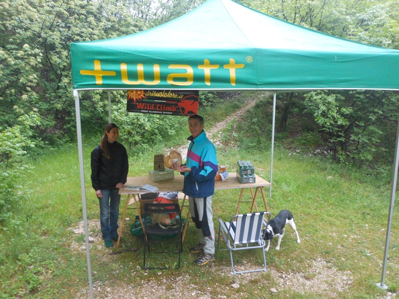
M 296 231 L 296 226 L 295 226 L 295 222 L 294 222 L 294 216 L 288 210 L 281 210 L 277 214 L 276 217 L 274 217 L 273 219 L 270 219 L 269 223 L 266 226 L 266 233 L 265 233 L 264 240 L 265 241 L 269 241 L 269 242 L 267 244 L 267 247 L 265 248 L 265 251 L 269 250 L 270 241 L 271 241 L 271 239 L 273 239 L 273 237 L 276 237 L 276 236 L 278 236 L 278 243 L 277 243 L 276 250 L 280 250 L 281 239 L 284 237 L 284 233 L 285 233 L 284 226 L 287 223 L 294 230 L 294 232 L 296 234 L 296 238 L 297 238 L 296 241 L 298 243 L 301 243 L 301 240 L 299 239 L 298 232 Z

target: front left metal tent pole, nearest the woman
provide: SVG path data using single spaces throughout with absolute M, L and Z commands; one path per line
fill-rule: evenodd
M 91 277 L 91 263 L 90 263 L 90 245 L 89 245 L 89 229 L 87 225 L 87 207 L 86 207 L 86 188 L 84 181 L 84 163 L 83 163 L 83 143 L 82 143 L 82 127 L 80 123 L 80 105 L 79 105 L 79 91 L 74 90 L 75 97 L 75 111 L 76 111 L 76 132 L 78 136 L 78 153 L 79 153 L 79 172 L 80 172 L 80 191 L 82 194 L 82 209 L 83 209 L 83 225 L 86 240 L 86 257 L 87 257 L 87 272 L 89 275 L 89 289 L 90 299 L 93 299 L 93 282 Z

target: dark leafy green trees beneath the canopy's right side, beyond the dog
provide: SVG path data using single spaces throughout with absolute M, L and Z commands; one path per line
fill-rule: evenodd
M 304 95 L 311 116 L 342 162 L 376 165 L 392 160 L 398 94 L 388 91 L 318 91 Z

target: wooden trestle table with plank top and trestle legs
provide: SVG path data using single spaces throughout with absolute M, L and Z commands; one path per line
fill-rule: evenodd
M 125 210 L 123 212 L 123 217 L 122 217 L 122 222 L 121 222 L 121 228 L 119 230 L 119 237 L 118 237 L 118 242 L 116 244 L 116 247 L 118 248 L 119 246 L 119 241 L 122 235 L 122 229 L 123 229 L 123 224 L 125 223 L 125 216 L 126 212 L 128 210 L 128 207 L 132 204 L 136 205 L 136 210 L 137 214 L 139 216 L 141 225 L 143 227 L 144 231 L 144 224 L 143 224 L 143 219 L 141 217 L 141 211 L 140 211 L 140 194 L 146 193 L 143 192 L 142 190 L 127 190 L 126 187 L 132 185 L 132 186 L 144 186 L 146 184 L 150 184 L 152 186 L 158 187 L 157 192 L 179 192 L 178 198 L 183 200 L 182 205 L 181 205 L 181 212 L 183 214 L 183 208 L 186 206 L 188 207 L 188 213 L 187 213 L 187 220 L 186 224 L 184 226 L 183 230 L 183 240 L 186 235 L 186 230 L 187 230 L 187 224 L 189 223 L 189 218 L 190 218 L 190 208 L 188 204 L 188 198 L 186 198 L 186 195 L 183 194 L 181 191 L 183 190 L 183 182 L 184 182 L 184 175 L 178 174 L 175 175 L 174 179 L 169 179 L 169 180 L 163 180 L 163 181 L 157 181 L 153 182 L 151 181 L 148 176 L 138 176 L 138 177 L 128 177 L 126 184 L 119 189 L 119 194 L 121 195 L 127 195 L 127 200 L 126 200 L 126 205 L 125 205 Z M 265 205 L 266 211 L 269 211 L 267 207 L 267 202 L 266 202 L 266 197 L 263 188 L 266 186 L 270 186 L 271 184 L 261 178 L 260 176 L 255 174 L 255 183 L 240 183 L 236 177 L 235 172 L 229 172 L 227 178 L 224 181 L 215 181 L 215 190 L 223 190 L 223 189 L 241 189 L 240 195 L 238 198 L 238 204 L 237 204 L 237 209 L 235 211 L 235 214 L 238 214 L 238 210 L 240 208 L 240 204 L 242 202 L 251 202 L 251 211 L 250 213 L 253 212 L 254 209 L 256 211 L 258 210 L 258 207 L 256 205 L 256 197 L 258 193 L 260 192 L 263 198 L 263 203 Z M 255 188 L 255 191 L 253 190 Z M 242 200 L 242 195 L 245 189 L 249 189 L 251 193 L 251 200 Z M 187 200 L 187 201 L 186 201 Z

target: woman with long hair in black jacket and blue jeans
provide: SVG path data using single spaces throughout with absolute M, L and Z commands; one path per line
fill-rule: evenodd
M 112 240 L 118 240 L 119 188 L 129 171 L 128 155 L 117 142 L 118 136 L 118 126 L 108 124 L 101 144 L 91 152 L 91 183 L 99 199 L 101 232 L 108 248 L 113 247 Z

